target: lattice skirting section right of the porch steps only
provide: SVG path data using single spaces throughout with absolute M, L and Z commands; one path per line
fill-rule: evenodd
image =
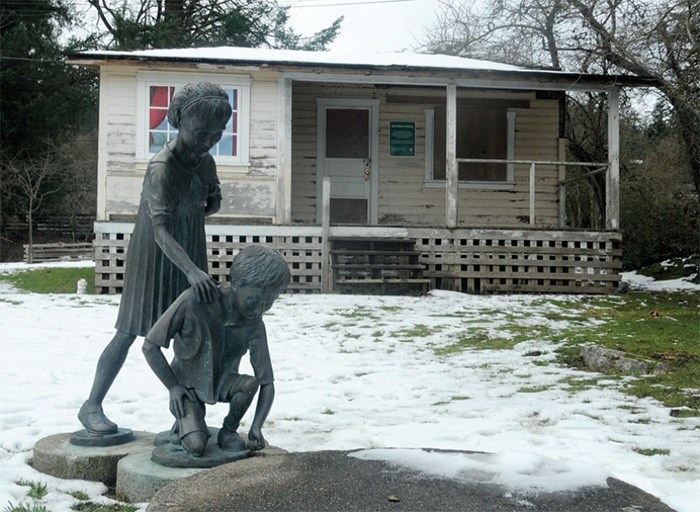
M 543 230 L 414 230 L 435 288 L 468 293 L 611 293 L 620 234 Z

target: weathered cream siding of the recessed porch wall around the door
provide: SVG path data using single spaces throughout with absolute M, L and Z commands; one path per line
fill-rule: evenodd
M 406 101 L 417 97 L 417 103 Z M 401 89 L 373 85 L 295 83 L 292 102 L 292 219 L 316 221 L 316 98 L 375 98 L 379 107 L 379 222 L 384 225 L 444 226 L 445 188 L 426 183 L 426 97 L 443 98 L 441 89 Z M 401 97 L 401 101 L 392 98 Z M 515 159 L 559 158 L 559 104 L 538 99 L 527 92 L 461 90 L 460 98 L 525 100 L 516 112 Z M 416 155 L 390 157 L 390 121 L 416 123 Z M 522 227 L 529 223 L 529 166 L 515 166 L 512 190 L 461 188 L 459 225 Z M 536 178 L 537 225 L 558 225 L 558 172 L 553 166 L 538 167 Z

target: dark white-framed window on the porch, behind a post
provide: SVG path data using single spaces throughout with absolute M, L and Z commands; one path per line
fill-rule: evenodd
M 444 184 L 446 161 L 446 108 L 426 110 L 426 181 Z M 513 160 L 515 158 L 515 111 L 489 105 L 457 105 L 457 158 Z M 458 162 L 460 184 L 485 188 L 510 186 L 513 164 Z

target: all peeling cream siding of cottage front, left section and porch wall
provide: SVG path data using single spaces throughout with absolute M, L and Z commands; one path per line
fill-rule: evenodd
M 136 159 L 136 66 L 101 68 L 100 154 L 98 166 L 98 220 L 130 220 L 136 213 L 147 161 Z M 170 70 L 172 71 L 172 70 Z M 178 71 L 179 72 L 179 71 Z M 201 69 L 185 71 L 192 80 L 206 79 Z M 212 72 L 221 74 L 221 70 Z M 279 144 L 278 74 L 269 71 L 229 70 L 252 79 L 250 90 L 250 166 L 219 165 L 224 203 L 216 219 L 281 222 L 276 219 L 276 197 L 281 168 Z M 292 222 L 316 223 L 317 98 L 375 98 L 379 108 L 378 196 L 382 225 L 444 226 L 444 186 L 427 182 L 426 109 L 444 101 L 441 88 L 401 88 L 374 85 L 294 82 L 292 93 Z M 416 102 L 406 98 L 416 97 Z M 538 99 L 532 92 L 469 91 L 460 98 L 517 101 L 515 159 L 560 160 L 559 103 Z M 397 101 L 396 98 L 402 98 Z M 523 106 L 525 105 L 525 106 Z M 390 157 L 390 121 L 416 123 L 414 157 Z M 558 170 L 537 168 L 537 226 L 558 225 Z M 529 166 L 516 165 L 509 190 L 460 188 L 459 225 L 471 227 L 524 227 L 529 223 Z

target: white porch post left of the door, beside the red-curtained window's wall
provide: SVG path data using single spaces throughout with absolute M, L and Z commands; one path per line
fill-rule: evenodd
M 277 80 L 276 224 L 292 223 L 292 81 Z

